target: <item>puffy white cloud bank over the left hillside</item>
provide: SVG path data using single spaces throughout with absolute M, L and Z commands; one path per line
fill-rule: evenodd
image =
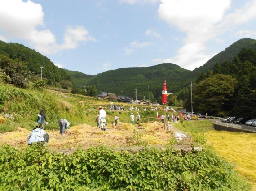
M 63 43 L 57 44 L 54 34 L 45 29 L 44 12 L 40 4 L 28 0 L 0 0 L 0 30 L 6 40 L 20 38 L 35 47 L 35 50 L 54 54 L 66 49 L 74 49 L 78 42 L 96 41 L 82 26 L 67 27 Z M 39 30 L 38 28 L 42 28 Z

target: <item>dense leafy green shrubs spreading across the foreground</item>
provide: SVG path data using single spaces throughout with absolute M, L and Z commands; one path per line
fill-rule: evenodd
M 1 145 L 2 191 L 249 191 L 234 167 L 212 151 L 185 156 L 172 149 L 131 154 L 95 147 L 70 155 L 44 147 Z

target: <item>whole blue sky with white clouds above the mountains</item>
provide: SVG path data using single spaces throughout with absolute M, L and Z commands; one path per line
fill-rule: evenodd
M 193 70 L 241 38 L 256 39 L 256 0 L 0 0 L 0 40 L 91 75 Z

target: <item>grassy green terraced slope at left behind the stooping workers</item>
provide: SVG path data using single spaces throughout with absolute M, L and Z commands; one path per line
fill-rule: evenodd
M 49 90 L 20 89 L 0 84 L 0 110 L 14 118 L 1 124 L 0 132 L 13 131 L 16 126 L 33 129 L 40 109 L 46 114 L 48 129 L 57 129 L 61 118 L 69 120 L 72 125 L 84 123 L 84 112 L 78 100 L 79 97 Z

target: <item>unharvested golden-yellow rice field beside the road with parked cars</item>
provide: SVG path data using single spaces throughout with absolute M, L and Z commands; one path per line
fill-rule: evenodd
M 256 190 L 256 134 L 227 131 L 206 132 L 207 143 L 236 166 Z

